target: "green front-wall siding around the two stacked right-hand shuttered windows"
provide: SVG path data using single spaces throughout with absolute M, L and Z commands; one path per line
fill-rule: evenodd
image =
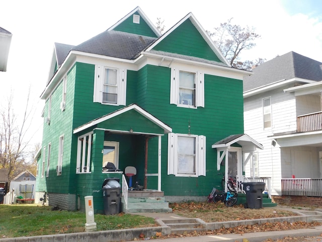
M 205 108 L 183 108 L 169 101 L 171 69 L 154 66 L 145 69 L 148 85 L 143 108 L 169 125 L 174 133 L 188 134 L 190 125 L 190 133 L 205 135 L 207 142 L 207 176 L 176 177 L 167 175 L 168 137 L 162 137 L 162 190 L 165 195 L 207 196 L 212 187 L 221 189 L 222 175 L 217 175 L 216 169 L 217 152 L 211 145 L 231 134 L 244 133 L 243 81 L 205 75 Z M 154 173 L 157 170 L 157 139 L 151 139 L 148 148 L 148 173 Z M 157 179 L 148 179 L 156 188 Z

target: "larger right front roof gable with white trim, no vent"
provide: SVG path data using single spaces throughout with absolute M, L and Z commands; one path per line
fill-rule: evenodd
M 205 60 L 230 67 L 192 13 L 156 40 L 147 51 L 173 53 L 188 59 L 195 57 L 199 61 Z

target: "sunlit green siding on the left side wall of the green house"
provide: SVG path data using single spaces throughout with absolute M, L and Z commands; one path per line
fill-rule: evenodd
M 39 175 L 37 177 L 36 185 L 38 192 L 74 193 L 74 187 L 72 183 L 70 183 L 70 181 L 73 180 L 73 174 L 70 172 L 70 150 L 75 69 L 76 67 L 74 66 L 67 75 L 66 108 L 64 111 L 61 111 L 60 109 L 60 102 L 62 101 L 62 82 L 59 83 L 51 95 L 50 125 L 46 124 L 46 117 L 49 113 L 49 99 L 46 100 L 45 103 L 42 152 L 43 147 L 46 146 L 46 153 L 42 153 L 41 158 L 39 159 Z M 58 162 L 59 137 L 62 135 L 64 136 L 62 172 L 61 175 L 57 175 L 56 166 Z M 49 176 L 46 177 L 45 174 L 44 177 L 41 177 L 43 156 L 45 156 L 45 173 L 47 169 L 49 143 L 51 143 Z

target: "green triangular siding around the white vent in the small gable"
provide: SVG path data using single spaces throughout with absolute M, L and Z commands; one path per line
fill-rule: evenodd
M 137 12 L 135 12 L 135 15 L 139 15 L 139 14 Z M 121 24 L 116 26 L 114 28 L 114 30 L 132 33 L 132 34 L 150 36 L 150 37 L 157 37 L 156 34 L 147 25 L 147 23 L 143 20 L 143 18 L 141 16 L 140 16 L 140 23 L 139 24 L 133 23 L 133 15 L 131 15 L 126 20 L 124 20 Z

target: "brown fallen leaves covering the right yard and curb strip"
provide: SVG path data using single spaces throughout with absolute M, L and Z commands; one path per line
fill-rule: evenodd
M 190 218 L 200 218 L 205 222 L 223 222 L 223 221 L 235 221 L 235 220 L 247 220 L 247 219 L 260 219 L 260 218 L 274 218 L 274 217 L 289 217 L 298 216 L 297 213 L 291 211 L 272 208 L 261 208 L 261 209 L 249 209 L 244 208 L 242 205 L 226 207 L 223 203 L 170 203 L 169 207 L 173 209 L 173 212 Z M 302 228 L 312 228 L 314 226 L 319 226 L 318 222 L 274 222 L 274 223 L 262 223 L 254 225 L 239 225 L 236 227 L 222 227 L 220 229 L 202 231 L 202 232 L 192 232 L 183 234 L 168 234 L 159 236 L 158 238 L 173 238 L 173 237 L 190 237 L 190 236 L 200 236 L 200 235 L 220 235 L 236 233 L 243 235 L 244 233 L 250 232 L 264 232 L 264 231 L 281 231 L 281 230 L 291 230 L 291 229 L 302 229 Z M 321 234 L 322 236 L 322 234 Z M 311 238 L 311 237 L 310 237 Z M 265 242 L 288 242 L 290 240 L 300 241 L 313 241 L 309 240 L 307 237 L 285 237 L 283 239 L 272 240 L 267 239 Z M 320 239 L 314 240 L 320 241 Z

